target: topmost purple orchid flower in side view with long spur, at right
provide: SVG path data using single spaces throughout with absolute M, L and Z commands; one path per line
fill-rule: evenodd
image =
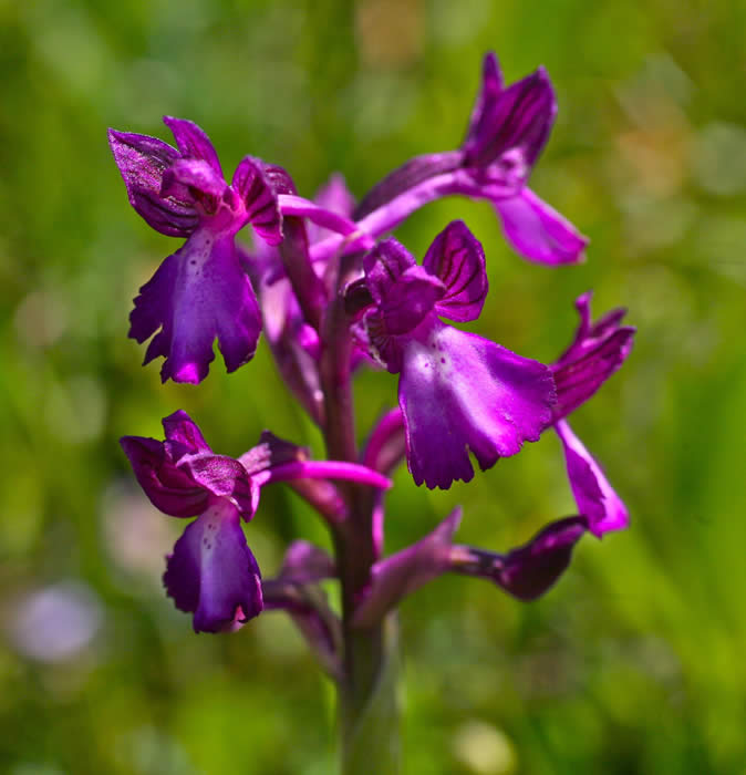
M 556 116 L 543 68 L 505 87 L 488 53 L 460 149 L 415 157 L 386 176 L 354 211 L 360 230 L 381 235 L 427 202 L 460 194 L 491 202 L 506 238 L 525 258 L 552 266 L 582 261 L 588 239 L 526 185 Z M 320 245 L 315 255 L 329 248 Z

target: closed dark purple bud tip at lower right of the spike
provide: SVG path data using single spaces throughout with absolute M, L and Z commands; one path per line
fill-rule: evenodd
M 584 517 L 567 517 L 547 525 L 528 544 L 496 562 L 493 580 L 520 600 L 535 600 L 564 572 L 586 529 Z

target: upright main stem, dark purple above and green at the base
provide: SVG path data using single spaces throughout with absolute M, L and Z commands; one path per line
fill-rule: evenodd
M 330 459 L 356 462 L 354 406 L 350 374 L 349 319 L 341 290 L 356 257 L 340 261 L 336 293 L 321 326 L 323 350 L 321 384 L 324 393 L 323 427 Z M 373 490 L 339 483 L 346 518 L 333 526 L 336 568 L 342 595 L 342 675 L 339 691 L 339 734 L 342 775 L 396 775 L 400 772 L 396 703 L 396 627 L 394 617 L 370 628 L 352 626 L 356 602 L 379 559 L 373 535 Z

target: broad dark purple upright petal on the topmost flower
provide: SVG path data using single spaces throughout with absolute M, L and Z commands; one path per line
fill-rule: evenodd
M 486 99 L 464 144 L 465 166 L 487 167 L 506 154 L 528 177 L 557 115 L 557 100 L 543 68 Z

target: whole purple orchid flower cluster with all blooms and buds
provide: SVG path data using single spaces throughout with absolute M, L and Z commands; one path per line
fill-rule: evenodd
M 216 339 L 231 372 L 252 358 L 263 329 L 279 373 L 327 444 L 329 459 L 317 462 L 266 433 L 238 458 L 217 455 L 184 412 L 163 421 L 164 441 L 122 438 L 153 504 L 195 518 L 164 575 L 195 630 L 235 629 L 265 608 L 283 609 L 339 673 L 344 633 L 375 626 L 431 579 L 487 578 L 530 600 L 557 581 L 586 531 L 626 526 L 624 504 L 567 420 L 626 359 L 634 329 L 621 324 L 623 311 L 592 322 L 584 293 L 570 345 L 555 363 L 539 363 L 446 322 L 477 320 L 488 294 L 484 248 L 463 221 L 437 234 L 422 264 L 387 236 L 428 202 L 460 195 L 491 203 L 525 258 L 581 261 L 588 240 L 527 185 L 556 113 L 543 69 L 506 86 L 490 53 L 460 147 L 411 159 L 358 205 L 339 175 L 310 200 L 284 169 L 250 156 L 228 184 L 207 135 L 188 121 L 164 120 L 176 147 L 110 131 L 132 206 L 157 231 L 186 240 L 135 299 L 129 335 L 151 340 L 145 363 L 162 356 L 164 381 L 199 383 Z M 236 239 L 247 225 L 250 249 Z M 350 385 L 364 364 L 398 375 L 398 407 L 358 451 Z M 382 557 L 383 492 L 400 462 L 417 485 L 448 488 L 474 477 L 472 456 L 486 471 L 548 428 L 561 440 L 576 515 L 495 554 L 454 544 L 457 510 Z M 266 579 L 242 523 L 273 482 L 319 512 L 338 554 L 296 542 Z M 319 587 L 325 578 L 342 585 L 344 627 Z

